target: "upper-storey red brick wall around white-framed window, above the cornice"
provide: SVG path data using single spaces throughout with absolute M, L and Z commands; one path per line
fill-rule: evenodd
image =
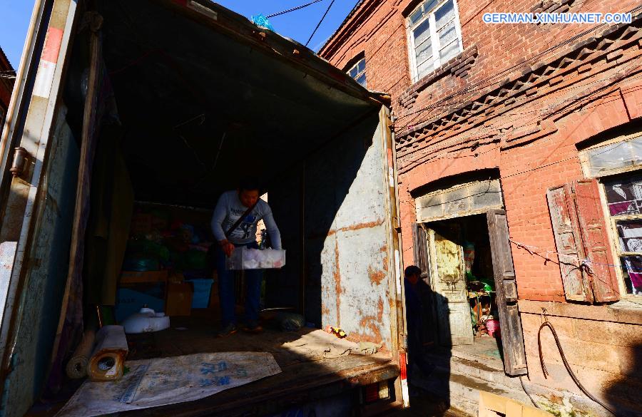
M 639 5 L 638 0 L 564 0 L 569 11 L 620 12 Z M 459 0 L 459 23 L 464 49 L 476 46 L 479 56 L 462 79 L 444 77 L 419 95 L 415 108 L 434 103 L 454 91 L 483 81 L 489 76 L 511 68 L 546 48 L 590 29 L 589 24 L 485 24 L 481 17 L 491 12 L 539 11 L 539 0 Z M 419 1 L 364 0 L 340 31 L 321 49 L 320 55 L 337 68 L 344 68 L 350 59 L 365 52 L 367 86 L 386 91 L 393 98 L 412 85 L 407 56 L 407 31 L 404 11 L 412 11 Z M 407 13 L 405 14 L 407 15 Z M 465 97 L 465 96 L 464 96 Z M 460 97 L 461 99 L 462 97 Z M 398 110 L 397 105 L 393 105 Z M 396 112 L 402 115 L 403 112 Z M 424 118 L 419 115 L 419 120 Z M 415 120 L 416 121 L 416 120 Z

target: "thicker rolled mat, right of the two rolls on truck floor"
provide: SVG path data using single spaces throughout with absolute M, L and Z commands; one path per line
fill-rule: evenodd
M 96 334 L 96 348 L 89 360 L 89 378 L 92 381 L 120 379 L 127 353 L 127 338 L 123 326 L 103 326 Z

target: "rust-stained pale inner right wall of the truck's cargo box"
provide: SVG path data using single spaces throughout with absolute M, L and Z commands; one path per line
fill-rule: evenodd
M 306 163 L 306 312 L 317 309 L 322 326 L 391 349 L 396 277 L 384 128 L 373 113 Z

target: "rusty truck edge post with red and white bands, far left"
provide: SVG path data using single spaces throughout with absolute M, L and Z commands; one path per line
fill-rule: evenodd
M 29 110 L 24 121 L 24 130 L 20 145 L 31 155 L 34 165 L 29 178 L 29 193 L 26 206 L 22 214 L 16 213 L 13 218 L 4 217 L 4 225 L 9 222 L 21 222 L 20 237 L 16 249 L 16 259 L 9 279 L 6 302 L 0 308 L 4 310 L 0 325 L 0 389 L 2 390 L 2 403 L 0 408 L 6 408 L 11 403 L 11 408 L 6 416 L 20 416 L 31 406 L 34 397 L 42 388 L 42 377 L 46 372 L 46 363 L 49 357 L 41 349 L 51 346 L 42 340 L 38 327 L 34 326 L 34 314 L 51 316 L 49 311 L 39 311 L 46 306 L 49 294 L 46 292 L 30 292 L 31 269 L 45 267 L 38 263 L 36 254 L 51 254 L 51 244 L 55 240 L 44 242 L 39 239 L 39 230 L 47 230 L 51 225 L 46 224 L 46 198 L 49 187 L 47 176 L 51 168 L 49 155 L 51 140 L 55 133 L 56 115 L 61 111 L 59 99 L 60 87 L 66 56 L 71 53 L 68 48 L 76 17 L 76 1 L 55 0 L 51 4 L 49 21 L 39 23 L 39 33 L 46 31 L 44 47 L 40 53 L 39 65 L 36 71 L 34 91 L 29 97 Z M 36 14 L 34 13 L 34 18 Z M 33 63 L 32 63 L 33 64 Z M 30 67 L 30 71 L 34 68 Z M 27 97 L 21 97 L 26 100 Z M 6 195 L 4 196 L 6 197 Z M 73 200 L 73 196 L 67 196 Z M 58 204 L 58 200 L 55 200 Z M 45 223 L 43 223 L 45 222 Z M 39 252 L 40 251 L 40 252 Z M 44 272 L 44 277 L 48 273 Z M 34 277 L 38 279 L 38 277 Z M 38 291 L 40 288 L 35 289 Z M 46 294 L 48 297 L 43 297 Z M 32 307 L 36 310 L 32 310 Z M 48 316 L 49 314 L 49 316 Z M 54 314 L 55 316 L 55 314 Z M 29 347 L 32 346 L 32 347 Z M 27 354 L 21 359 L 21 349 L 39 349 L 36 356 Z M 34 359 L 34 360 L 31 360 Z M 43 362 L 44 361 L 44 362 Z M 38 366 L 41 366 L 38 369 Z M 42 368 L 44 366 L 44 368 Z

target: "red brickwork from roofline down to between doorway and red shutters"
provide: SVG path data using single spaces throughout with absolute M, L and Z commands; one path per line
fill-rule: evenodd
M 607 12 L 629 11 L 639 1 L 565 3 L 569 11 Z M 484 24 L 484 12 L 534 11 L 541 1 L 459 0 L 464 53 L 412 83 L 402 13 L 409 4 L 363 1 L 320 51 L 339 68 L 365 52 L 368 88 L 392 95 L 404 264 L 413 262 L 411 192 L 485 168 L 499 168 L 511 238 L 554 251 L 546 189 L 582 177 L 578 143 L 642 115 L 639 21 L 627 34 L 605 33 L 605 26 L 544 53 L 592 26 Z M 597 41 L 578 45 L 589 36 Z M 451 120 L 465 105 L 469 111 Z M 512 252 L 520 299 L 564 301 L 558 265 L 516 246 Z

